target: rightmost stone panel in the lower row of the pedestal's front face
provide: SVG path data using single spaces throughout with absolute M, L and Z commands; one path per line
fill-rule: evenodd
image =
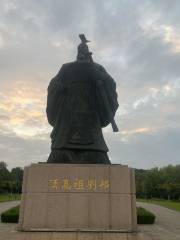
M 110 207 L 111 229 L 126 229 L 132 227 L 131 195 L 112 194 Z

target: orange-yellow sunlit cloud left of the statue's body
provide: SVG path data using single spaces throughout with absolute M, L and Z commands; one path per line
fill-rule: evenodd
M 45 115 L 45 94 L 37 86 L 18 83 L 0 95 L 0 127 L 21 137 L 35 137 L 50 131 Z M 6 119 L 6 120 L 5 120 Z

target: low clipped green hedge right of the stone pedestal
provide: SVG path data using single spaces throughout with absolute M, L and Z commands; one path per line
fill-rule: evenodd
M 153 224 L 156 216 L 142 207 L 137 207 L 137 223 Z

